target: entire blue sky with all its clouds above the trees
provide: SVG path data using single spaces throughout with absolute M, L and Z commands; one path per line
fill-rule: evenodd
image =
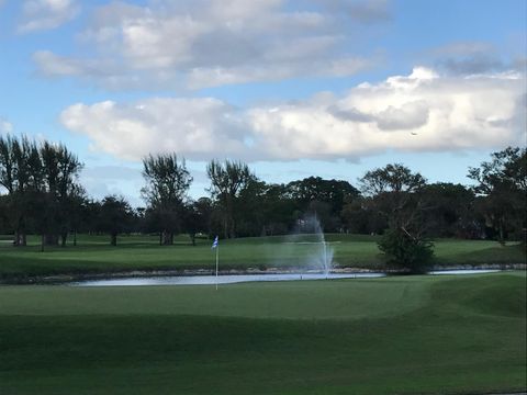
M 469 184 L 526 145 L 525 0 L 0 0 L 0 134 L 61 142 L 90 196 L 141 206 L 142 158 L 357 184 Z

